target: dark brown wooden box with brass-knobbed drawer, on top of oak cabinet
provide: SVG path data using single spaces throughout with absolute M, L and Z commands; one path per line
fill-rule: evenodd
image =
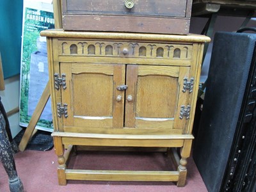
M 192 0 L 62 0 L 63 29 L 188 34 Z

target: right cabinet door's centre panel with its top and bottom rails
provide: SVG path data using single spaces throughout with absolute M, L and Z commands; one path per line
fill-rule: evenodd
M 179 67 L 139 65 L 135 122 L 138 128 L 173 128 Z M 167 118 L 167 119 L 166 119 Z

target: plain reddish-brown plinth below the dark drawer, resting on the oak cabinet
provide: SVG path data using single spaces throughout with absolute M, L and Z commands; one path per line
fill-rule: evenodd
M 139 16 L 63 15 L 67 31 L 118 31 L 187 35 L 190 19 Z

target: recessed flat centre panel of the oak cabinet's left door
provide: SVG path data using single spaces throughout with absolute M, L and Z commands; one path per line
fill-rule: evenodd
M 113 74 L 95 74 L 86 70 L 80 72 L 72 72 L 74 116 L 112 116 Z

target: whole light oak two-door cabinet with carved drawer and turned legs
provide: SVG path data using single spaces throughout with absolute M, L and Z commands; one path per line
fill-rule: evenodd
M 47 30 L 54 148 L 67 179 L 161 180 L 184 186 L 202 50 L 200 35 Z M 63 145 L 182 148 L 177 170 L 69 170 Z

